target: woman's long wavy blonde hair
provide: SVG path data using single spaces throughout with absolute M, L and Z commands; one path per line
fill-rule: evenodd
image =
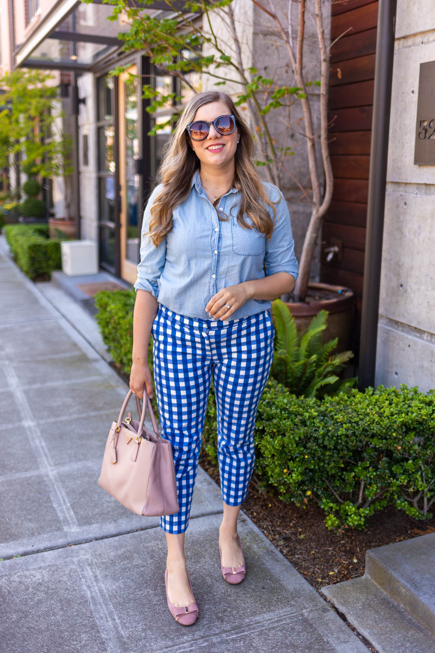
M 234 185 L 241 192 L 242 198 L 237 222 L 245 229 L 257 229 L 265 234 L 266 238 L 272 235 L 273 219 L 277 215 L 277 210 L 274 202 L 265 193 L 262 180 L 252 163 L 254 141 L 247 124 L 228 93 L 205 91 L 195 95 L 186 105 L 164 149 L 162 163 L 158 170 L 158 177 L 163 185 L 151 207 L 148 232 L 155 247 L 158 247 L 166 234 L 171 231 L 173 210 L 187 198 L 192 185 L 192 176 L 200 168 L 200 159 L 190 147 L 186 126 L 194 121 L 200 106 L 212 102 L 226 104 L 228 112 L 235 117 L 239 133 L 239 144 L 234 155 Z M 271 208 L 273 218 L 268 208 Z M 252 224 L 248 223 L 246 217 L 252 221 Z M 228 217 L 220 215 L 220 219 L 228 219 Z

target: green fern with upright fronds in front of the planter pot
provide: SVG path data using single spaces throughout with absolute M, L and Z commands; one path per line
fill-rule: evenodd
M 297 396 L 318 397 L 343 392 L 356 378 L 340 379 L 338 374 L 353 357 L 352 351 L 332 354 L 338 338 L 323 343 L 327 311 L 313 317 L 307 332 L 299 335 L 295 319 L 280 299 L 272 304 L 275 321 L 275 353 L 271 374 Z

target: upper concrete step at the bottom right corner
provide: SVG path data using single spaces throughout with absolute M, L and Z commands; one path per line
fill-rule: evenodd
M 368 550 L 365 573 L 435 637 L 435 533 Z

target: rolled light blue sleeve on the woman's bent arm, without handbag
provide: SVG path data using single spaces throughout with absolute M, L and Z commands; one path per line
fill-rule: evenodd
M 287 202 L 276 186 L 270 184 L 269 187 L 271 189 L 269 198 L 273 202 L 277 202 L 275 204 L 277 216 L 272 236 L 269 239 L 266 238 L 264 258 L 266 276 L 276 272 L 288 272 L 296 280 L 298 266 Z

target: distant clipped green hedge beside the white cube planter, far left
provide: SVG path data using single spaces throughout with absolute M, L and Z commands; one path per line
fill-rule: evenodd
M 5 236 L 16 264 L 31 279 L 62 267 L 61 244 L 48 238 L 48 225 L 6 225 Z

